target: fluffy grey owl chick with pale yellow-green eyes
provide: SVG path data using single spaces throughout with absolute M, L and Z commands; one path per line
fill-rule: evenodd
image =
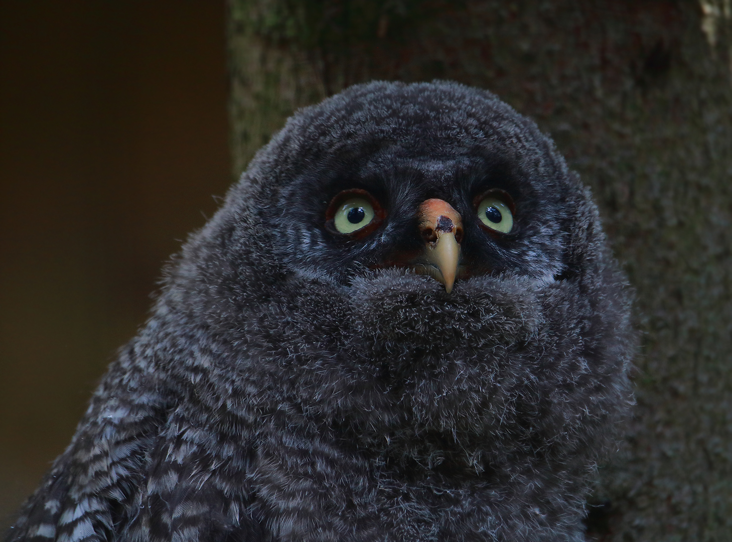
M 9 541 L 581 541 L 632 401 L 589 190 L 457 83 L 288 120 L 165 270 Z

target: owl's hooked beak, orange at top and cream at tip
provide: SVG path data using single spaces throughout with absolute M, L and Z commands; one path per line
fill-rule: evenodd
M 414 270 L 443 283 L 449 294 L 458 274 L 463 220 L 452 205 L 436 198 L 427 199 L 419 206 L 417 218 L 425 251 Z

